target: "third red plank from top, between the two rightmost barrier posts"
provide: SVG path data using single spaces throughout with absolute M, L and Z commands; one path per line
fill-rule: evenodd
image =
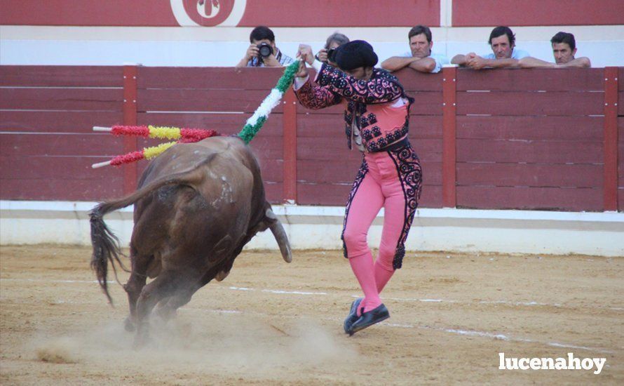
M 601 141 L 604 117 L 457 117 L 457 138 Z

